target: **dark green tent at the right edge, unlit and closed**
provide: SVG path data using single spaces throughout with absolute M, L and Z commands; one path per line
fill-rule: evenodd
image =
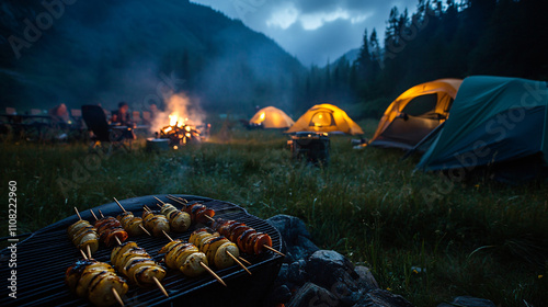
M 547 166 L 548 83 L 478 76 L 465 79 L 416 168 L 472 170 L 516 161 Z

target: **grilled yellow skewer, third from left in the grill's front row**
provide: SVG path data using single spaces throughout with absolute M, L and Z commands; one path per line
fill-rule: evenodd
M 220 284 L 227 286 L 215 272 L 207 265 L 207 257 L 201 252 L 193 243 L 184 242 L 183 240 L 173 240 L 167 232 L 163 232 L 170 240 L 158 253 L 164 254 L 164 261 L 168 268 L 180 270 L 184 275 L 194 277 L 208 272 Z

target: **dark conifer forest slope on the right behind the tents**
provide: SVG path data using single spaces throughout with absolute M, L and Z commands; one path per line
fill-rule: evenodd
M 408 88 L 439 78 L 548 80 L 546 12 L 544 0 L 419 0 L 412 15 L 395 7 L 384 44 L 378 30 L 365 30 L 357 59 L 312 66 L 297 100 L 302 109 L 333 101 L 378 118 Z

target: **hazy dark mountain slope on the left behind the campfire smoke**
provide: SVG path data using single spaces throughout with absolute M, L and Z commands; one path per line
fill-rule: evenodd
M 290 107 L 306 71 L 271 38 L 187 0 L 46 2 L 57 5 L 0 3 L 2 109 L 146 109 L 169 90 L 217 112 Z

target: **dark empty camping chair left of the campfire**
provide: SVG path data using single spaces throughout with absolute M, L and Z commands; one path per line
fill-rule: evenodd
M 128 141 L 129 149 L 132 149 L 132 138 L 127 138 L 124 128 L 113 128 L 106 122 L 106 115 L 103 109 L 99 105 L 82 105 L 82 118 L 88 129 L 93 133 L 91 137 L 90 150 L 102 146 L 103 143 L 109 143 L 109 154 L 113 149 L 125 148 L 125 141 Z M 127 127 L 127 129 L 130 129 Z

